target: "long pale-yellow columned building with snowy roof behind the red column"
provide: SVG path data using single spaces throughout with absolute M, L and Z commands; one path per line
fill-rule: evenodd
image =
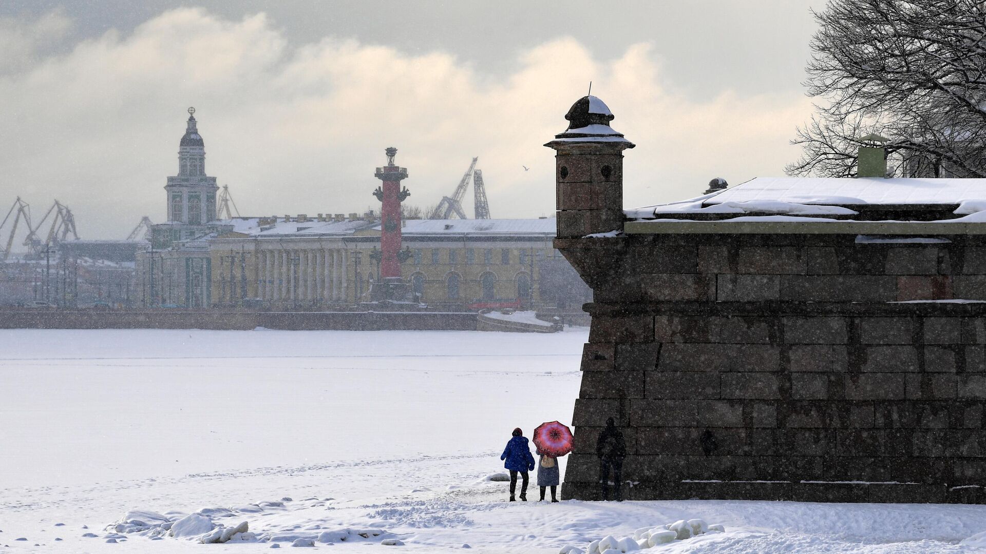
M 233 222 L 239 231 L 209 239 L 215 304 L 304 310 L 369 302 L 380 278 L 380 222 L 325 219 L 245 219 Z M 416 300 L 433 308 L 578 310 L 588 289 L 552 246 L 554 228 L 553 219 L 409 220 L 402 271 Z

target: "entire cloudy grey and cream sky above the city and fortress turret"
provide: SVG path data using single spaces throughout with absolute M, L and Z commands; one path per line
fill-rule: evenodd
M 194 105 L 207 173 L 244 215 L 375 207 L 391 145 L 412 204 L 451 193 L 479 156 L 493 217 L 551 215 L 541 145 L 589 81 L 637 144 L 627 207 L 781 175 L 811 112 L 801 82 L 823 2 L 267 4 L 0 2 L 3 210 L 57 198 L 86 239 L 163 221 Z

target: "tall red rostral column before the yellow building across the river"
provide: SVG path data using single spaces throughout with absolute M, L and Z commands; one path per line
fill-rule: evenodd
M 400 251 L 400 203 L 410 196 L 407 187 L 400 187 L 400 181 L 407 178 L 407 169 L 393 165 L 393 157 L 397 155 L 397 149 L 387 148 L 387 166 L 377 168 L 377 178 L 384 181 L 383 186 L 378 186 L 373 191 L 373 195 L 383 203 L 381 206 L 381 260 L 380 260 L 380 279 L 385 283 L 400 280 L 401 258 L 406 257 L 408 252 Z

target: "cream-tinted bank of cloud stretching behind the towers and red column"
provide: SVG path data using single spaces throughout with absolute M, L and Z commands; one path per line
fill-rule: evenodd
M 58 27 L 39 21 L 0 26 Z M 803 98 L 742 96 L 726 84 L 711 101 L 675 93 L 649 44 L 602 60 L 554 39 L 505 50 L 514 70 L 494 78 L 449 52 L 330 36 L 292 45 L 263 14 L 177 9 L 66 53 L 26 51 L 18 59 L 28 62 L 0 74 L 9 114 L 0 204 L 58 198 L 84 238 L 125 237 L 142 215 L 164 219 L 189 105 L 207 172 L 230 184 L 245 215 L 374 206 L 387 146 L 409 169 L 411 203 L 437 203 L 479 156 L 494 217 L 551 215 L 554 160 L 542 145 L 589 81 L 638 145 L 626 153 L 628 206 L 699 194 L 713 176 L 782 173 L 797 156 L 787 140 L 810 113 Z

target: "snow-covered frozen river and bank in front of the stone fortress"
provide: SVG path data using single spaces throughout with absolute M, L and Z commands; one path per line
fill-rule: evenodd
M 883 554 L 970 552 L 958 542 L 986 530 L 977 506 L 507 503 L 506 483 L 484 477 L 502 471 L 514 427 L 569 422 L 586 339 L 0 331 L 0 552 L 254 552 L 313 538 L 548 553 L 700 518 L 726 532 L 653 551 Z M 205 523 L 195 531 L 246 521 L 256 542 L 153 540 L 161 521 L 134 510 L 205 515 L 180 525 Z M 123 519 L 145 524 L 114 526 Z

